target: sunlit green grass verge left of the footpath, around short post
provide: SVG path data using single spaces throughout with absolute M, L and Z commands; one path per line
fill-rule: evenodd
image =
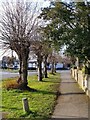
M 37 81 L 37 76 L 28 77 L 28 86 L 35 91 L 21 91 L 18 89 L 6 90 L 2 88 L 2 111 L 7 112 L 7 118 L 30 118 L 44 120 L 50 117 L 54 109 L 57 91 L 60 83 L 60 74 L 48 75 L 43 82 Z M 5 82 L 11 79 L 6 79 Z M 28 98 L 30 112 L 25 113 L 22 107 L 22 98 Z

